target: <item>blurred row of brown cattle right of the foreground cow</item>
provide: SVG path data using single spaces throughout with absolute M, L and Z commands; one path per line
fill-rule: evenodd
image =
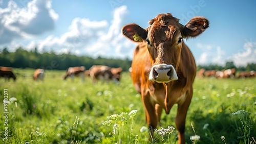
M 252 78 L 256 76 L 254 70 L 251 71 L 241 71 L 238 75 L 236 75 L 236 68 L 229 68 L 223 70 L 205 70 L 201 68 L 198 71 L 198 77 L 214 77 L 214 78 Z

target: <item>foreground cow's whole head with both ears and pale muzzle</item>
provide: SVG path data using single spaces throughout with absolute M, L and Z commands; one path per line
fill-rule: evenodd
M 122 28 L 123 35 L 135 42 L 147 42 L 151 59 L 149 79 L 158 83 L 178 80 L 176 70 L 180 64 L 182 38 L 195 37 L 208 28 L 204 17 L 192 18 L 186 26 L 172 14 L 159 14 L 148 22 L 150 26 L 143 29 L 136 24 Z

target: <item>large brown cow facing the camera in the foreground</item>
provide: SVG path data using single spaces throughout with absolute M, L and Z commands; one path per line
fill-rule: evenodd
M 182 38 L 196 37 L 209 27 L 204 17 L 194 17 L 185 25 L 172 14 L 159 14 L 141 28 L 131 23 L 122 28 L 128 39 L 139 42 L 132 62 L 132 80 L 141 94 L 147 125 L 153 135 L 166 114 L 178 104 L 176 127 L 179 143 L 185 143 L 185 119 L 193 95 L 196 63 Z

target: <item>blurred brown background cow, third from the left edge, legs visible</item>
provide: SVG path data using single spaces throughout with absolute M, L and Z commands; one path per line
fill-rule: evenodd
M 71 80 L 74 80 L 74 76 L 81 77 L 82 82 L 84 82 L 84 70 L 86 70 L 86 67 L 84 66 L 76 66 L 76 67 L 69 67 L 67 69 L 66 75 L 64 77 L 64 80 L 67 79 L 67 77 L 71 77 Z

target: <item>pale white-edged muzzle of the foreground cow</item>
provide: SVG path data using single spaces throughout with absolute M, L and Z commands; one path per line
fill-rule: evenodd
M 150 77 L 148 79 L 158 83 L 168 83 L 178 80 L 178 76 L 173 65 L 158 64 L 151 68 Z

